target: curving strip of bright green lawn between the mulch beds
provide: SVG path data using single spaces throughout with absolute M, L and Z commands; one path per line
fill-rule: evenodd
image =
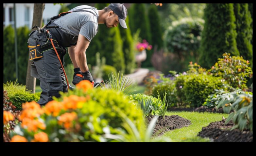
M 169 137 L 173 142 L 210 142 L 209 138 L 201 138 L 197 134 L 202 130 L 202 127 L 208 126 L 211 122 L 221 121 L 222 116 L 225 118 L 229 114 L 224 113 L 209 113 L 209 112 L 188 112 L 188 111 L 167 111 L 166 115 L 179 115 L 182 118 L 191 121 L 188 127 L 182 127 L 173 131 L 166 132 L 159 137 Z M 154 141 L 155 138 L 152 140 Z

